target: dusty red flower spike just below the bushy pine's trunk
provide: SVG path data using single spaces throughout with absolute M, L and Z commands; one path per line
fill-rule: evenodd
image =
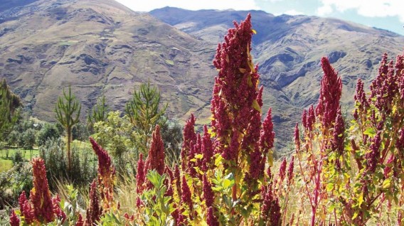
M 156 170 L 162 175 L 164 173 L 164 144 L 160 135 L 160 127 L 156 125 L 153 131 L 153 139 L 151 140 L 149 155 L 147 156 L 147 170 Z

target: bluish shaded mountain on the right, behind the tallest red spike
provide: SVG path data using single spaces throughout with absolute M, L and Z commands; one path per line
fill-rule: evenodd
M 358 78 L 368 87 L 376 77 L 383 53 L 392 59 L 403 53 L 404 36 L 334 18 L 170 7 L 150 12 L 214 46 L 222 42 L 228 28 L 233 26 L 232 21 L 239 22 L 248 13 L 257 32 L 252 38 L 252 55 L 260 65 L 265 107 L 273 109 L 278 141 L 291 141 L 292 129 L 300 122 L 302 109 L 317 103 L 323 75 L 322 56 L 329 57 L 342 77 L 341 102 L 344 112 L 350 114 Z

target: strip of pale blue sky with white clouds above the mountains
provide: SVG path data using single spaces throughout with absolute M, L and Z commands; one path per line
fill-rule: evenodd
M 117 0 L 134 11 L 164 6 L 182 9 L 259 9 L 270 14 L 341 18 L 404 35 L 403 0 Z

